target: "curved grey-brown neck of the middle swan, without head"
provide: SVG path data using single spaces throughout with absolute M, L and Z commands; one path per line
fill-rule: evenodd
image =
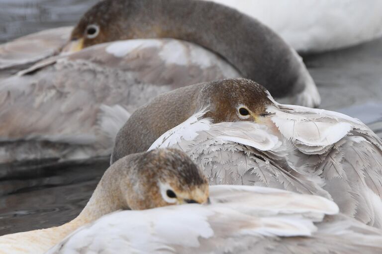
M 187 120 L 197 108 L 205 106 L 197 105 L 196 99 L 203 85 L 189 85 L 160 94 L 138 108 L 118 131 L 111 163 L 126 155 L 147 151 L 163 133 Z

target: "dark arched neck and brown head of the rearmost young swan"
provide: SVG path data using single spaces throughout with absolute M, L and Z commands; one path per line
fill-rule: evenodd
M 83 16 L 72 33 L 72 40 L 80 41 L 76 49 L 136 38 L 176 38 L 196 43 L 221 55 L 243 77 L 264 85 L 276 97 L 306 88 L 315 94 L 311 94 L 315 97 L 312 105 L 319 103 L 302 61 L 276 33 L 252 17 L 217 3 L 104 0 Z

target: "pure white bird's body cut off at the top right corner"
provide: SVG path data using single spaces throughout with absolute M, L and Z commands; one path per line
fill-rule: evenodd
M 212 0 L 258 19 L 299 52 L 322 52 L 382 36 L 380 0 Z

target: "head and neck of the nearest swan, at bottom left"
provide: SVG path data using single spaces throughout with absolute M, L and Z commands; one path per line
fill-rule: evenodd
M 105 171 L 74 220 L 59 227 L 1 236 L 0 254 L 43 254 L 79 227 L 120 209 L 205 203 L 207 198 L 205 176 L 184 153 L 158 149 L 130 155 Z

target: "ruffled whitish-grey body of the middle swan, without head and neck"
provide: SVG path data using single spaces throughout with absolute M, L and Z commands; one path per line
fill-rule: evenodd
M 382 141 L 358 119 L 274 103 L 258 123 L 209 124 L 209 129 L 188 133 L 192 139 L 179 140 L 186 135 L 178 133 L 171 140 L 165 133 L 166 144 L 160 147 L 175 143 L 210 183 L 318 194 L 333 199 L 341 212 L 381 228 Z

